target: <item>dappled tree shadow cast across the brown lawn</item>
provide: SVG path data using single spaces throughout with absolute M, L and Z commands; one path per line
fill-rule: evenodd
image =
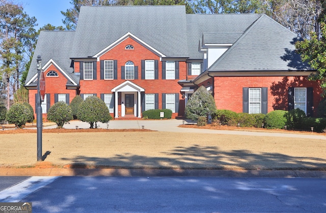
M 61 160 L 76 162 L 72 169 L 112 168 L 128 170 L 130 175 L 137 175 L 137 169 L 172 169 L 171 172 L 189 169 L 204 170 L 325 170 L 326 159 L 312 157 L 293 157 L 278 153 L 251 153 L 249 150 L 221 151 L 217 146 L 193 145 L 175 147 L 164 153 L 166 157 L 147 157 L 125 153 L 112 158 L 77 156 Z M 76 171 L 75 175 L 82 171 Z M 112 173 L 114 175 L 115 173 Z M 187 175 L 186 173 L 184 175 Z

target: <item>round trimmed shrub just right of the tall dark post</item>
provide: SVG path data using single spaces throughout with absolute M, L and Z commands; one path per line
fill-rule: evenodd
M 56 123 L 58 128 L 62 128 L 73 119 L 70 106 L 62 101 L 55 103 L 47 112 L 47 119 Z

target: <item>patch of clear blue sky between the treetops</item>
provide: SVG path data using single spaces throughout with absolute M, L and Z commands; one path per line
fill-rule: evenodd
M 24 11 L 37 19 L 38 30 L 45 24 L 50 23 L 53 26 L 63 26 L 64 16 L 60 11 L 66 11 L 71 8 L 71 0 L 18 0 L 17 3 L 23 6 Z

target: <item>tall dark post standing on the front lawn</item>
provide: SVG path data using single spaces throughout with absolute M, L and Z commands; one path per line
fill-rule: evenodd
M 41 56 L 37 56 L 37 96 L 36 96 L 36 127 L 37 127 L 37 161 L 42 161 L 42 106 L 41 106 L 41 92 L 40 92 L 40 78 L 42 59 Z M 43 79 L 44 80 L 44 79 Z M 42 85 L 43 87 L 43 85 Z M 43 88 L 42 88 L 43 89 Z M 43 97 L 44 99 L 44 97 Z

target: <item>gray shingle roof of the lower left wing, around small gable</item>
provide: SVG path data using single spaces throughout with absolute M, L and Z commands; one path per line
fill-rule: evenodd
M 70 67 L 71 59 L 69 58 L 74 34 L 74 31 L 41 31 L 26 83 L 37 73 L 36 59 L 38 55 L 41 55 L 42 66 L 52 59 L 79 84 L 79 77 L 73 74 L 73 68 Z M 70 84 L 70 82 L 67 82 L 67 84 Z

